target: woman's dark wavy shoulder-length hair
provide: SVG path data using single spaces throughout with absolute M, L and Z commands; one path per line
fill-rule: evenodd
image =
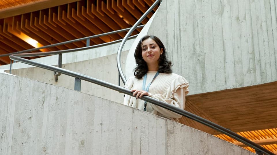
M 159 68 L 158 71 L 160 73 L 172 73 L 172 69 L 171 69 L 171 61 L 167 60 L 166 58 L 166 49 L 164 47 L 164 44 L 162 43 L 162 41 L 156 37 L 156 36 L 144 36 L 141 38 L 141 40 L 139 41 L 139 44 L 136 46 L 136 50 L 135 50 L 135 59 L 136 59 L 136 67 L 134 68 L 134 75 L 136 78 L 141 79 L 143 77 L 144 74 L 147 73 L 148 71 L 148 67 L 146 62 L 142 59 L 142 42 L 148 38 L 151 38 L 152 40 L 154 40 L 158 46 L 160 47 L 160 49 L 164 49 L 162 52 L 162 55 L 160 55 L 159 58 Z

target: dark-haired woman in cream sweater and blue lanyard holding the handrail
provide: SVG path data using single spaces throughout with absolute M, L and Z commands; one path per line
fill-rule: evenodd
M 171 61 L 166 58 L 166 49 L 161 40 L 156 36 L 144 36 L 139 41 L 134 56 L 134 77 L 129 78 L 124 86 L 134 93 L 133 96 L 125 95 L 124 104 L 179 122 L 178 118 L 182 115 L 138 99 L 146 95 L 185 108 L 188 82 L 182 76 L 172 73 Z

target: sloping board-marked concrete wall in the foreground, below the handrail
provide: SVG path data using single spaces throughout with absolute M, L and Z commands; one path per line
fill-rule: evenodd
M 0 154 L 253 154 L 171 120 L 0 73 Z

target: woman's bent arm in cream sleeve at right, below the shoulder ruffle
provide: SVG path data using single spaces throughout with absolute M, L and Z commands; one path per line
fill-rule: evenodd
M 166 102 L 170 105 L 173 105 L 177 108 L 184 110 L 185 102 L 186 102 L 185 90 L 186 90 L 186 88 L 178 88 L 176 90 L 176 92 L 173 93 L 172 98 L 165 98 L 162 94 L 150 94 L 150 93 L 149 93 L 149 97 Z M 179 115 L 173 111 L 167 110 L 167 109 L 157 106 L 155 104 L 151 104 L 151 106 L 156 111 L 158 111 L 159 113 L 161 113 L 162 115 L 164 115 L 166 117 L 173 117 L 173 118 L 181 118 L 182 117 L 182 115 Z

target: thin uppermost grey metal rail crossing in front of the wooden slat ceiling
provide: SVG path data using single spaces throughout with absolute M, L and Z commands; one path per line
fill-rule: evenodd
M 142 28 L 144 26 L 145 25 L 140 25 L 137 28 Z M 46 45 L 46 46 L 43 46 L 43 47 L 38 47 L 38 48 L 33 48 L 33 49 L 27 49 L 27 50 L 13 52 L 13 53 L 2 54 L 2 55 L 0 55 L 0 57 L 5 57 L 5 56 L 12 55 L 12 54 L 19 54 L 19 53 L 27 53 L 27 52 L 37 51 L 37 50 L 40 50 L 40 49 L 46 49 L 46 48 L 49 48 L 49 47 L 56 47 L 56 46 L 59 46 L 59 45 L 69 44 L 69 43 L 72 43 L 72 42 L 87 40 L 87 39 L 91 39 L 91 38 L 98 38 L 98 37 L 101 37 L 101 36 L 106 36 L 106 35 L 116 34 L 116 33 L 120 33 L 120 32 L 125 32 L 125 31 L 128 31 L 130 29 L 131 28 L 125 28 L 125 29 L 116 30 L 116 31 L 112 31 L 112 32 L 106 32 L 106 33 L 102 33 L 102 34 L 96 34 L 96 35 L 88 36 L 88 37 L 84 37 L 84 38 L 78 38 L 78 39 L 69 40 L 69 41 L 65 41 L 65 42 L 59 42 L 59 43 L 56 43 L 56 44 L 50 44 L 50 45 Z M 117 41 L 117 40 L 115 40 L 115 41 Z M 44 52 L 44 53 L 49 53 L 49 52 Z M 39 55 L 39 56 L 42 56 L 42 55 Z

